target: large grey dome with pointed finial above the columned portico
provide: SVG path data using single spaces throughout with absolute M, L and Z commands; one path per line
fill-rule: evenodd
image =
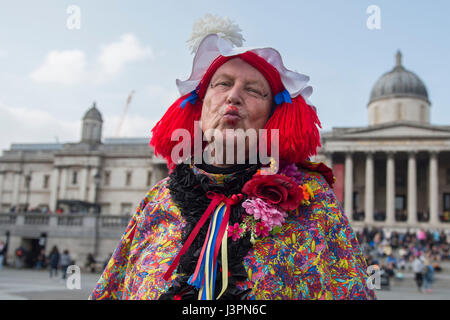
M 383 74 L 375 83 L 369 104 L 390 98 L 418 98 L 430 103 L 425 84 L 415 73 L 403 67 L 400 51 L 397 52 L 394 69 Z

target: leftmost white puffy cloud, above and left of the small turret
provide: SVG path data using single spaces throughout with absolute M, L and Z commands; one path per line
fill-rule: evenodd
M 86 56 L 81 50 L 50 51 L 44 63 L 30 74 L 38 83 L 78 84 L 86 77 Z

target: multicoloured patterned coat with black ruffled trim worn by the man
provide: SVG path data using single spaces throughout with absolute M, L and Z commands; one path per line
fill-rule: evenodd
M 331 170 L 311 162 L 297 167 L 297 180 L 313 193 L 310 203 L 290 212 L 275 235 L 253 244 L 249 237 L 228 238 L 229 283 L 222 299 L 375 299 L 355 233 L 330 187 Z M 187 279 L 207 226 L 170 279 L 163 276 L 208 204 L 202 194 L 213 190 L 228 196 L 256 169 L 220 174 L 178 165 L 140 202 L 89 299 L 197 299 L 198 290 Z M 244 210 L 235 207 L 230 225 Z

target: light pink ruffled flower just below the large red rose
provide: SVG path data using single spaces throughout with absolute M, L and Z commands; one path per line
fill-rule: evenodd
M 242 203 L 245 211 L 249 215 L 253 215 L 255 220 L 261 220 L 261 222 L 272 230 L 274 226 L 280 226 L 284 222 L 284 218 L 287 217 L 287 213 L 281 211 L 276 206 L 272 206 L 260 198 L 247 199 Z

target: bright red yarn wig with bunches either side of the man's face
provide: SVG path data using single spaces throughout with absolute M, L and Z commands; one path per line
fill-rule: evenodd
M 219 56 L 209 66 L 195 92 L 188 93 L 175 101 L 152 129 L 150 145 L 155 155 L 167 161 L 170 170 L 175 167 L 171 159 L 172 149 L 179 141 L 172 141 L 172 133 L 176 129 L 185 129 L 190 134 L 191 155 L 194 155 L 194 121 L 199 121 L 202 101 L 212 76 L 225 62 L 240 58 L 256 68 L 266 78 L 272 95 L 285 90 L 278 70 L 257 54 L 247 51 L 235 56 Z M 195 100 L 195 102 L 193 102 Z M 264 129 L 267 129 L 268 152 L 270 155 L 270 130 L 279 130 L 279 159 L 291 163 L 300 163 L 317 154 L 320 147 L 320 135 L 317 126 L 321 127 L 315 110 L 309 106 L 301 95 L 291 98 L 291 102 L 283 102 L 275 107 Z

